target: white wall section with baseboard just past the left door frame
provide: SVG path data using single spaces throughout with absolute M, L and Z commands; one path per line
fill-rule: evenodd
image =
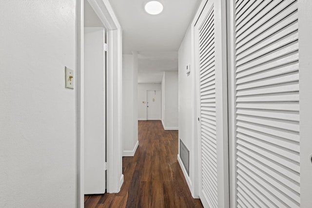
M 133 156 L 137 149 L 137 53 L 123 55 L 123 156 Z

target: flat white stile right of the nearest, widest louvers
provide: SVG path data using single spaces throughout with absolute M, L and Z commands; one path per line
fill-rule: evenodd
M 299 96 L 300 96 L 300 206 L 312 203 L 312 4 L 311 0 L 298 0 L 299 35 Z

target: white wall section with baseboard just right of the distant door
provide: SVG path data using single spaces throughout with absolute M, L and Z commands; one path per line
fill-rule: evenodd
M 162 124 L 165 130 L 178 130 L 178 72 L 164 72 Z

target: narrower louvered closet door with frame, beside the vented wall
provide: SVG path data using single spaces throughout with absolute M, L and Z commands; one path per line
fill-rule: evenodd
M 207 208 L 228 207 L 225 4 L 208 0 L 194 27 L 198 97 L 199 195 Z M 224 2 L 225 3 L 225 2 Z

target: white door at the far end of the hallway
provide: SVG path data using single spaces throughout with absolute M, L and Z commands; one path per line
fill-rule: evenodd
M 161 119 L 161 93 L 160 90 L 147 91 L 147 120 Z

